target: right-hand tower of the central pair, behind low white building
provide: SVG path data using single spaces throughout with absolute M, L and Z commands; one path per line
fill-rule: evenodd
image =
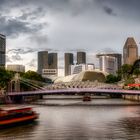
M 77 64 L 86 64 L 85 52 L 77 52 Z

